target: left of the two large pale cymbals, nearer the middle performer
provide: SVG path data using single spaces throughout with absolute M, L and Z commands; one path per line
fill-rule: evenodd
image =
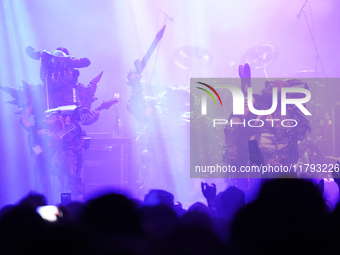
M 209 66 L 213 62 L 212 54 L 198 46 L 183 46 L 174 53 L 175 63 L 183 69 L 191 70 L 199 66 Z

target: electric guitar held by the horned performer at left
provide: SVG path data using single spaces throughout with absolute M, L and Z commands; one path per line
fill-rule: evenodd
M 96 110 L 107 110 L 116 103 L 118 103 L 118 100 L 116 99 L 104 101 L 98 108 L 96 108 Z M 86 114 L 80 118 L 79 121 L 73 122 L 67 126 L 65 126 L 65 123 L 62 120 L 57 119 L 49 127 L 48 135 L 30 133 L 28 136 L 28 144 L 32 154 L 36 158 L 50 161 L 56 155 L 60 147 L 60 141 L 63 139 L 63 137 L 69 134 L 71 131 L 77 129 L 79 125 L 83 124 L 90 117 L 90 114 Z

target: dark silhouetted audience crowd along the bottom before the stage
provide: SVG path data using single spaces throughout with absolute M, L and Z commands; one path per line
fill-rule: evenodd
M 59 205 L 53 222 L 37 213 L 46 198 L 30 193 L 0 210 L 1 253 L 339 254 L 340 206 L 330 211 L 322 192 L 322 181 L 272 179 L 246 204 L 237 187 L 202 183 L 207 204 L 187 210 L 165 190 L 144 201 L 109 193 Z

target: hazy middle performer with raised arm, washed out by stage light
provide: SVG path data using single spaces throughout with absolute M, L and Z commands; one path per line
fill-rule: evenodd
M 136 119 L 148 125 L 148 142 L 141 155 L 141 176 L 145 191 L 165 189 L 181 201 L 192 192 L 189 178 L 190 93 L 184 88 L 167 87 L 156 97 L 143 95 L 140 76 L 128 73 L 131 96 L 127 108 Z M 176 190 L 181 189 L 181 194 Z M 181 197 L 186 194 L 187 197 Z

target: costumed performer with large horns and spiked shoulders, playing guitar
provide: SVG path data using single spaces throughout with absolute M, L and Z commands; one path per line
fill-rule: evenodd
M 41 58 L 43 84 L 22 82 L 18 90 L 2 89 L 15 98 L 11 103 L 21 109 L 20 123 L 29 132 L 30 148 L 35 155 L 37 189 L 51 198 L 50 175 L 57 174 L 60 192 L 71 192 L 73 198 L 81 199 L 84 182 L 81 151 L 85 132 L 79 123 L 90 125 L 99 118 L 99 111 L 90 108 L 97 99 L 94 94 L 102 73 L 85 86 L 78 83 L 79 71 L 75 68 L 89 66 L 87 58 L 76 59 L 65 48 L 50 53 L 27 47 L 26 52 L 33 59 Z M 34 115 L 33 123 L 31 115 Z M 69 127 L 74 128 L 69 130 Z M 68 132 L 60 135 L 60 130 Z

